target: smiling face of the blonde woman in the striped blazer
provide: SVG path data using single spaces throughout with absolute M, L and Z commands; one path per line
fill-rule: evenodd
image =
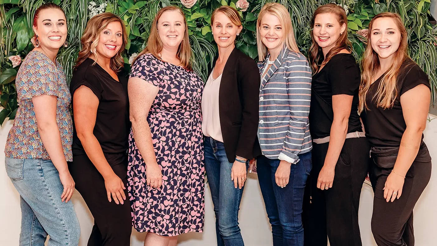
M 282 49 L 284 45 L 284 31 L 281 21 L 276 15 L 265 14 L 260 26 L 261 41 L 269 51 Z

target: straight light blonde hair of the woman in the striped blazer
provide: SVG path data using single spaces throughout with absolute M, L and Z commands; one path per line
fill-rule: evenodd
M 300 53 L 298 45 L 295 39 L 295 32 L 293 31 L 293 25 L 291 24 L 291 17 L 288 10 L 279 3 L 266 3 L 258 14 L 257 20 L 257 46 L 258 46 L 258 59 L 262 62 L 267 55 L 267 47 L 261 41 L 260 27 L 261 21 L 266 14 L 273 14 L 281 22 L 282 30 L 285 38 L 284 43 L 287 48 L 293 52 Z

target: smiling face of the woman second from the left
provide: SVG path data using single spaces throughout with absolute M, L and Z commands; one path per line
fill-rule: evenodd
M 112 21 L 99 35 L 96 52 L 99 57 L 111 59 L 120 50 L 123 44 L 123 29 L 121 23 Z

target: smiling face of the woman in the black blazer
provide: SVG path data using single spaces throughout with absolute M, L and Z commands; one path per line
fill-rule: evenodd
M 217 46 L 226 48 L 234 45 L 237 34 L 240 33 L 242 26 L 237 26 L 222 12 L 215 15 L 212 23 L 212 33 Z

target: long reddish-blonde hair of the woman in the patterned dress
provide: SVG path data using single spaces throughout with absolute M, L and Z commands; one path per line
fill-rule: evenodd
M 188 37 L 187 19 L 185 18 L 184 12 L 182 12 L 180 8 L 175 6 L 163 7 L 158 11 L 155 18 L 153 19 L 152 29 L 150 30 L 149 39 L 147 40 L 147 46 L 138 54 L 138 56 L 134 59 L 132 64 L 135 63 L 136 59 L 138 59 L 140 56 L 147 53 L 150 53 L 155 57 L 157 57 L 158 59 L 160 59 L 159 54 L 163 50 L 163 42 L 161 41 L 160 35 L 158 34 L 158 21 L 165 11 L 177 11 L 179 14 L 182 15 L 182 17 L 184 17 L 184 25 L 185 25 L 184 38 L 182 39 L 182 42 L 180 42 L 180 45 L 177 48 L 176 57 L 177 59 L 179 59 L 181 66 L 183 66 L 187 70 L 191 70 L 191 63 L 190 63 L 191 46 L 190 46 L 190 39 Z

